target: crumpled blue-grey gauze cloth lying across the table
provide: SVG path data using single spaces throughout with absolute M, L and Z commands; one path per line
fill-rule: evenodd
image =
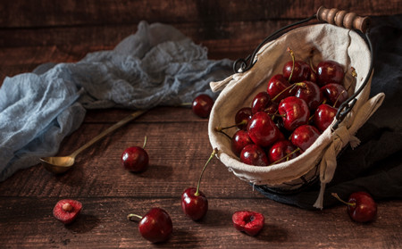
M 52 156 L 88 109 L 149 109 L 216 98 L 208 84 L 229 76 L 232 62 L 208 60 L 205 47 L 178 29 L 141 21 L 110 51 L 80 62 L 46 63 L 4 79 L 0 88 L 0 181 Z

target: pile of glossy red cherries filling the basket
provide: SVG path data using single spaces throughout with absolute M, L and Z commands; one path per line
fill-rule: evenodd
M 251 106 L 239 109 L 235 125 L 215 129 L 225 135 L 224 129 L 238 129 L 230 139 L 241 162 L 266 166 L 304 153 L 348 99 L 339 62 L 314 66 L 311 57 L 309 63 L 297 61 L 288 51 L 292 60 L 284 64 L 282 74 L 268 80 L 266 91 L 257 93 Z

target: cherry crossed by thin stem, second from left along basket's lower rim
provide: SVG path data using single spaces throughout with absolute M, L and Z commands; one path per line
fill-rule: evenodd
M 267 154 L 270 163 L 280 163 L 296 158 L 300 152 L 289 140 L 281 140 L 273 144 Z

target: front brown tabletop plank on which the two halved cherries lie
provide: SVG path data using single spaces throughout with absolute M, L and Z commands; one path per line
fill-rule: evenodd
M 83 210 L 78 220 L 64 226 L 52 215 L 60 197 L 1 197 L 0 234 L 4 248 L 398 248 L 402 244 L 400 201 L 379 204 L 379 216 L 371 224 L 352 222 L 344 206 L 331 211 L 308 212 L 258 199 L 209 198 L 205 219 L 189 220 L 181 211 L 180 198 L 79 198 Z M 40 204 L 38 204 L 40 203 Z M 152 245 L 140 237 L 138 224 L 126 220 L 131 212 L 144 215 L 159 206 L 170 213 L 172 237 Z M 238 210 L 253 210 L 265 216 L 256 237 L 240 233 L 231 224 Z M 29 229 L 27 229 L 29 228 Z M 374 239 L 375 238 L 375 239 Z

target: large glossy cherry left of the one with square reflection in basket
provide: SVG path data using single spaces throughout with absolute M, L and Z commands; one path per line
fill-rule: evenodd
M 256 112 L 247 125 L 248 136 L 255 145 L 267 147 L 281 136 L 281 131 L 266 112 Z

